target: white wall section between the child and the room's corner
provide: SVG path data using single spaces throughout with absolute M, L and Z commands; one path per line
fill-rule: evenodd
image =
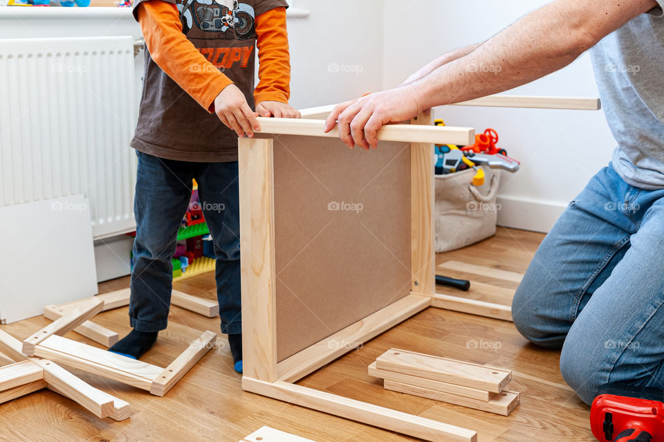
M 295 0 L 288 18 L 291 104 L 303 109 L 382 89 L 382 0 Z

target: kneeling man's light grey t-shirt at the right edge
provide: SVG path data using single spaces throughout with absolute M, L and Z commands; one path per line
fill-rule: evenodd
M 664 0 L 590 50 L 607 121 L 618 141 L 612 163 L 635 187 L 664 188 Z

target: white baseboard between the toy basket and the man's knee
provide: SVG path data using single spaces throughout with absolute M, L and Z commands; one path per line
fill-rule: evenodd
M 546 233 L 567 207 L 559 201 L 541 201 L 498 195 L 498 225 Z

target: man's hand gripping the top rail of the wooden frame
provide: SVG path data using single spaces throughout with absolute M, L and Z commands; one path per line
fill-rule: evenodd
M 338 104 L 325 122 L 325 132 L 338 122 L 340 137 L 348 147 L 376 149 L 378 129 L 390 122 L 410 120 L 420 111 L 414 86 L 401 86 Z

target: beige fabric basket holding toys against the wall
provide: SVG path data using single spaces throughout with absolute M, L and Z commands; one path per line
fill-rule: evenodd
M 472 185 L 474 169 L 436 175 L 436 252 L 449 252 L 493 236 L 498 206 L 500 172 L 483 167 L 484 184 Z

